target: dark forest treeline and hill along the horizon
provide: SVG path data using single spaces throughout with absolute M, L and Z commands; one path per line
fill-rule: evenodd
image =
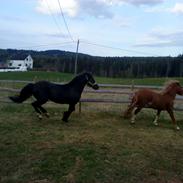
M 0 61 L 34 59 L 34 70 L 74 73 L 75 53 L 60 50 L 0 49 Z M 177 57 L 98 57 L 79 53 L 78 73 L 104 77 L 183 77 L 183 55 Z

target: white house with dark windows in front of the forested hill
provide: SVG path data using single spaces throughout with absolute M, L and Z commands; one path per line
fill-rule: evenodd
M 8 68 L 17 68 L 21 71 L 27 71 L 33 68 L 33 59 L 28 55 L 24 60 L 9 60 Z

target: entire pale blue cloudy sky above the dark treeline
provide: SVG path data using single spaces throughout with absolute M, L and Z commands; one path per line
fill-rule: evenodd
M 183 0 L 0 0 L 0 48 L 183 54 Z

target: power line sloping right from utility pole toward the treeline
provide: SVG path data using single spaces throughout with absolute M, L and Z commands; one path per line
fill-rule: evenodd
M 118 47 L 112 47 L 112 46 L 108 46 L 108 45 L 93 43 L 93 42 L 90 42 L 90 41 L 87 41 L 87 40 L 80 40 L 80 42 L 84 43 L 84 44 L 93 45 L 93 46 L 98 46 L 98 47 L 103 47 L 103 48 L 108 48 L 108 49 L 114 49 L 114 50 L 121 50 L 121 51 L 125 51 L 125 52 L 130 52 L 130 53 L 138 53 L 138 54 L 143 54 L 143 55 L 159 56 L 159 55 L 152 54 L 152 53 L 147 53 L 147 52 L 141 52 L 141 51 L 135 51 L 135 50 L 129 50 L 129 49 L 123 49 L 123 48 L 118 48 Z

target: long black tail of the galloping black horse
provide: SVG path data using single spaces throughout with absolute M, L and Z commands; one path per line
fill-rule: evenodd
M 22 103 L 32 95 L 33 86 L 33 83 L 29 83 L 20 91 L 19 95 L 10 96 L 9 98 L 15 103 Z

